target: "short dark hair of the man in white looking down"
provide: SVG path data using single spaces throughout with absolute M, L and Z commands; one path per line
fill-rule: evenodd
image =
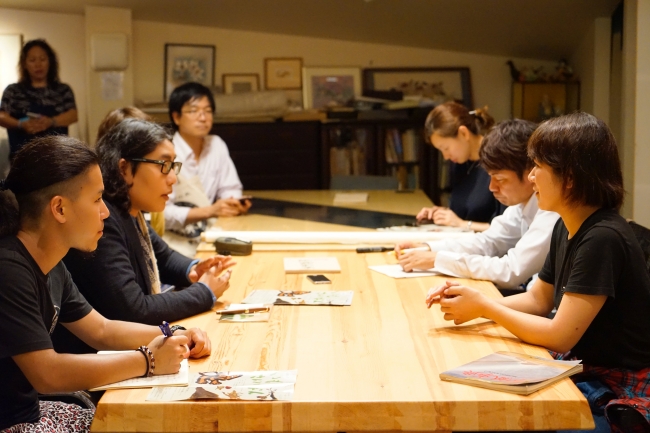
M 519 180 L 533 167 L 528 157 L 528 139 L 537 124 L 529 120 L 511 119 L 498 123 L 485 137 L 479 150 L 481 165 L 486 171 L 512 170 Z

